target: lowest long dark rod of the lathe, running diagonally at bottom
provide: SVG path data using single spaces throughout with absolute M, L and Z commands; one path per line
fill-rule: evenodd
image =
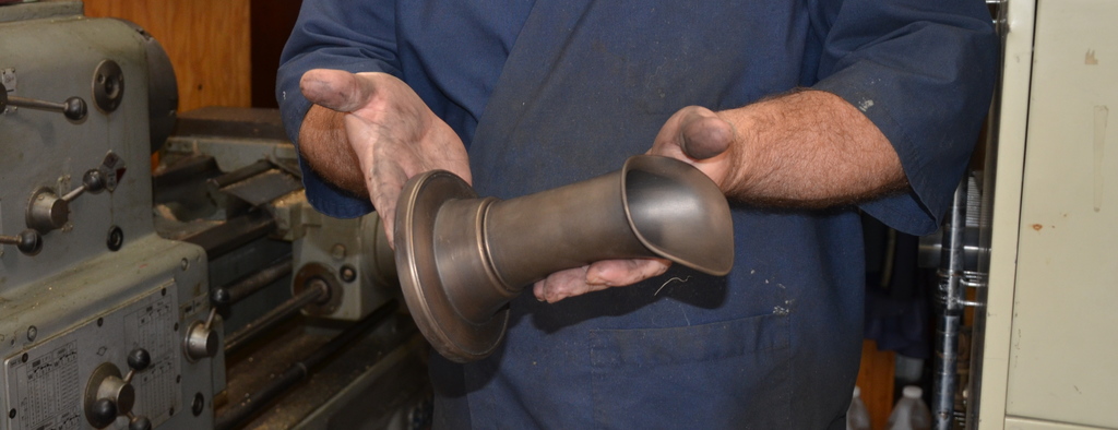
M 373 310 L 372 314 L 369 314 L 369 316 L 364 319 L 349 326 L 341 334 L 330 340 L 330 342 L 325 345 L 315 350 L 305 359 L 292 364 L 280 376 L 269 381 L 260 390 L 249 394 L 240 403 L 230 408 L 227 413 L 218 417 L 217 423 L 214 428 L 217 430 L 230 430 L 240 427 L 249 418 L 255 415 L 265 407 L 269 405 L 273 400 L 285 393 L 288 389 L 300 383 L 302 380 L 306 379 L 314 367 L 318 367 L 331 355 L 334 355 L 343 347 L 348 346 L 357 340 L 358 336 L 363 335 L 372 327 L 380 325 L 380 323 L 396 313 L 396 299 L 389 300 L 385 305 L 377 308 L 377 310 Z

